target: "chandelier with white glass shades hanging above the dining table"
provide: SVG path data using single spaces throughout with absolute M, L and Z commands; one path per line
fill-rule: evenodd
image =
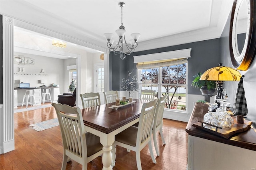
M 140 33 L 132 33 L 131 37 L 132 39 L 129 40 L 130 45 L 125 40 L 124 34 L 126 33 L 126 30 L 124 29 L 123 26 L 123 7 L 125 5 L 124 2 L 119 2 L 118 4 L 121 7 L 121 26 L 119 27 L 118 30 L 116 30 L 116 34 L 119 37 L 118 43 L 116 44 L 114 40 L 112 39 L 113 35 L 112 33 L 105 33 L 104 36 L 107 39 L 107 46 L 110 51 L 113 51 L 115 55 L 119 55 L 121 59 L 124 59 L 126 56 L 125 55 L 130 55 L 131 52 L 134 51 L 134 49 L 137 47 L 138 39 L 140 37 Z M 123 48 L 124 46 L 124 48 Z M 124 52 L 127 50 L 126 52 Z

